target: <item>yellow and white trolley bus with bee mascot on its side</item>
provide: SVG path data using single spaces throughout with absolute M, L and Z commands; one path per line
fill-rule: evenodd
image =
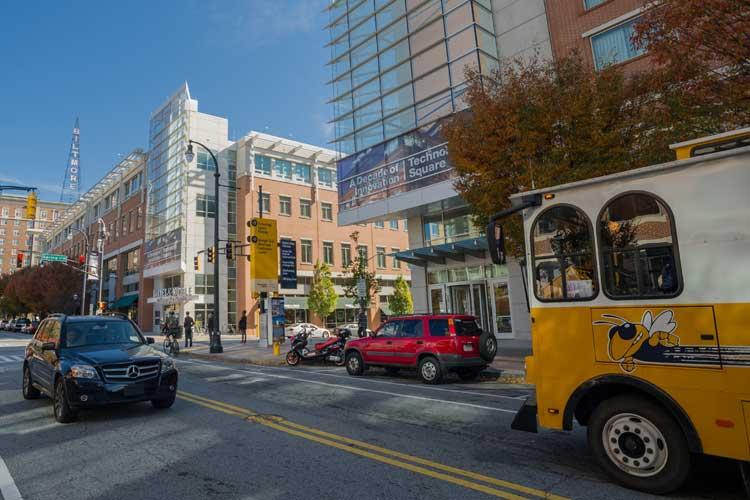
M 520 193 L 535 398 L 513 428 L 587 426 L 616 481 L 679 488 L 691 455 L 750 481 L 750 129 L 673 146 L 677 161 Z M 750 495 L 750 487 L 748 487 Z

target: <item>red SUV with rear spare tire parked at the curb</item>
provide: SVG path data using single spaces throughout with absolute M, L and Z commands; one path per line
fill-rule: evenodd
M 416 368 L 426 384 L 439 384 L 455 371 L 473 380 L 497 353 L 495 336 L 483 332 L 473 316 L 427 314 L 392 318 L 370 337 L 346 343 L 346 370 L 359 376 L 370 366 L 389 373 Z

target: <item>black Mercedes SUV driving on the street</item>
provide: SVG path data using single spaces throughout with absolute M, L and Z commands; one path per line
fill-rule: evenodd
M 23 397 L 45 393 L 62 423 L 83 407 L 151 401 L 155 408 L 169 408 L 177 368 L 153 342 L 126 317 L 49 316 L 26 347 Z

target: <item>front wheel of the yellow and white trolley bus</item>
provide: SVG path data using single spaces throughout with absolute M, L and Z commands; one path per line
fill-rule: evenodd
M 601 403 L 589 420 L 588 442 L 599 465 L 626 488 L 664 495 L 690 474 L 690 451 L 679 424 L 640 396 Z

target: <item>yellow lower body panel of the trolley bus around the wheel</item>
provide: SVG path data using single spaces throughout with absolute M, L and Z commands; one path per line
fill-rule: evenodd
M 622 320 L 636 327 L 642 342 L 637 349 L 622 345 L 617 330 L 611 346 L 610 330 Z M 654 320 L 675 326 L 664 328 L 671 333 L 649 332 L 646 325 L 654 327 Z M 534 356 L 527 369 L 536 385 L 539 424 L 562 429 L 570 397 L 588 380 L 635 377 L 685 411 L 705 453 L 750 460 L 749 323 L 750 304 L 534 308 Z

